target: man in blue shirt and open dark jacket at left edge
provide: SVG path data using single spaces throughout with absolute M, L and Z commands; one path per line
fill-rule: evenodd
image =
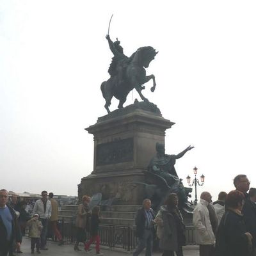
M 8 207 L 8 192 L 0 190 L 0 256 L 6 256 L 12 251 L 13 240 L 20 241 L 20 230 L 17 216 L 12 208 Z

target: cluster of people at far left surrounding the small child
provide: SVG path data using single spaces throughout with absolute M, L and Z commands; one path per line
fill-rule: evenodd
M 58 203 L 53 199 L 53 193 L 42 191 L 42 198 L 36 200 L 35 205 L 23 200 L 18 202 L 17 195 L 8 198 L 6 189 L 0 190 L 0 256 L 13 256 L 14 253 L 22 253 L 22 236 L 25 236 L 26 227 L 31 237 L 31 253 L 41 253 L 48 250 L 47 228 L 59 239 L 59 245 L 63 239 L 57 228 Z M 31 211 L 30 211 L 31 209 Z

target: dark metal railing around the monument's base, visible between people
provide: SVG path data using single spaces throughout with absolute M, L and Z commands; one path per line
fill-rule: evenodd
M 59 230 L 65 243 L 76 242 L 76 227 L 73 221 L 59 221 Z M 195 243 L 195 228 L 193 225 L 186 226 L 186 244 Z M 86 232 L 87 238 L 90 233 Z M 122 248 L 131 251 L 136 248 L 138 241 L 135 236 L 135 226 L 116 226 L 116 225 L 100 225 L 99 228 L 100 244 L 109 248 Z

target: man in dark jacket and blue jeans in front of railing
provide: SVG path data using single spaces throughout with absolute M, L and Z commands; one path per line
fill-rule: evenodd
M 133 256 L 138 256 L 144 248 L 146 248 L 146 256 L 152 255 L 153 246 L 153 231 L 154 231 L 154 212 L 150 208 L 151 201 L 149 199 L 143 200 L 143 207 L 138 209 L 135 218 L 136 236 L 139 238 L 139 243 Z

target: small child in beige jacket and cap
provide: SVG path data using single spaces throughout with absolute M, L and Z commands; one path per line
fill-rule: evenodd
M 35 246 L 36 252 L 40 252 L 40 234 L 43 228 L 42 222 L 38 220 L 39 215 L 36 213 L 34 214 L 33 218 L 27 222 L 29 228 L 28 236 L 31 238 L 31 253 L 35 253 Z

